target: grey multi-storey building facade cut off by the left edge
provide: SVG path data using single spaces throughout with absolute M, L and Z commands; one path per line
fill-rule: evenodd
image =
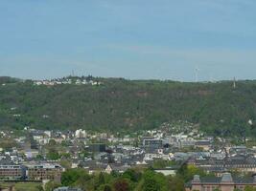
M 26 169 L 22 165 L 0 165 L 0 180 L 22 180 L 25 174 Z

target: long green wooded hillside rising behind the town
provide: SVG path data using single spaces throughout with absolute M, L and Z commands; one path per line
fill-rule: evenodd
M 0 78 L 0 128 L 138 130 L 188 120 L 208 133 L 256 135 L 256 81 L 181 83 L 98 78 L 103 85 L 36 86 Z

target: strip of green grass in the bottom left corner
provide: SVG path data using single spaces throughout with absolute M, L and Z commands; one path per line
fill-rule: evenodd
M 39 191 L 42 184 L 37 182 L 0 183 L 1 188 L 9 188 L 14 185 L 15 191 Z

